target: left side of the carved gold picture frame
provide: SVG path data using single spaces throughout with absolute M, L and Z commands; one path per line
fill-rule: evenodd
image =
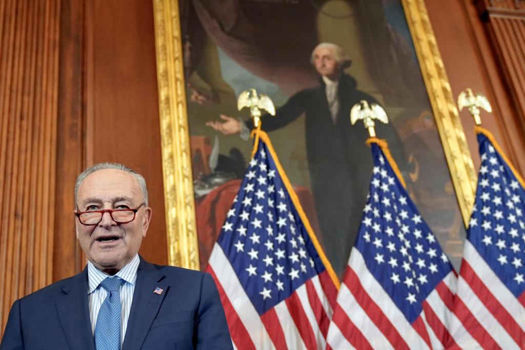
M 199 269 L 177 0 L 153 0 L 168 263 Z

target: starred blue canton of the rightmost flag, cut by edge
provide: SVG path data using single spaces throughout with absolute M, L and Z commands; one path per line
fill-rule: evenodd
M 478 134 L 481 167 L 467 239 L 516 295 L 525 289 L 525 190 L 485 135 Z

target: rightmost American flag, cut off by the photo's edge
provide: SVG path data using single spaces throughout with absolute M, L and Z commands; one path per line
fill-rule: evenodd
M 490 133 L 477 127 L 481 167 L 454 312 L 464 348 L 525 348 L 525 190 Z

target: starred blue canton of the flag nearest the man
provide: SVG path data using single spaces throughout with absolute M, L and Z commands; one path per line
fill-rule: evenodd
M 325 270 L 262 140 L 217 243 L 259 315 Z

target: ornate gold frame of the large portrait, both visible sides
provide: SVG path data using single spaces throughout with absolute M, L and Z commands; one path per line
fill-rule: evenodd
M 465 223 L 476 173 L 423 0 L 402 0 Z M 178 0 L 153 0 L 168 262 L 199 269 Z

